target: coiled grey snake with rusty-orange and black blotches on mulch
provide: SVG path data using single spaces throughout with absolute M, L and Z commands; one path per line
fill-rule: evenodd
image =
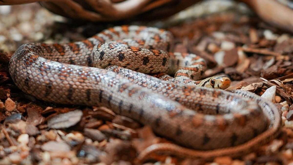
M 172 48 L 169 31 L 115 26 L 73 43 L 26 43 L 8 70 L 18 88 L 40 100 L 105 106 L 175 142 L 147 147 L 141 160 L 161 151 L 239 156 L 277 137 L 282 121 L 272 102 L 248 91 L 224 91 L 230 85 L 225 76 L 198 80 L 205 61 L 168 53 Z

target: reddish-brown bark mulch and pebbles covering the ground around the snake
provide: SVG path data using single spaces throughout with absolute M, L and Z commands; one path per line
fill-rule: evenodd
M 57 22 L 56 22 L 57 20 Z M 55 21 L 55 22 L 54 22 Z M 57 105 L 19 90 L 7 67 L 23 43 L 79 41 L 111 25 L 64 23 L 37 4 L 13 6 L 0 16 L 0 164 L 137 163 L 151 144 L 169 142 L 149 127 L 115 114 L 106 107 Z M 213 160 L 152 154 L 144 164 L 293 164 L 293 38 L 258 18 L 224 12 L 167 28 L 175 37 L 174 51 L 200 55 L 209 69 L 205 77 L 225 74 L 227 90 L 265 95 L 282 114 L 277 139 L 238 158 Z

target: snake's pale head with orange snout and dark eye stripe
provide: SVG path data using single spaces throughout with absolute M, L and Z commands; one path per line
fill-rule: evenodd
M 213 76 L 202 80 L 199 86 L 217 88 L 217 89 L 226 89 L 230 86 L 231 80 L 224 75 Z

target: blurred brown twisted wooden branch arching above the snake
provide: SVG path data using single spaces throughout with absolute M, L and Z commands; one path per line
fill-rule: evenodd
M 0 5 L 40 2 L 50 11 L 85 21 L 154 20 L 200 0 L 1 0 Z M 266 22 L 293 33 L 293 10 L 276 0 L 238 0 Z

